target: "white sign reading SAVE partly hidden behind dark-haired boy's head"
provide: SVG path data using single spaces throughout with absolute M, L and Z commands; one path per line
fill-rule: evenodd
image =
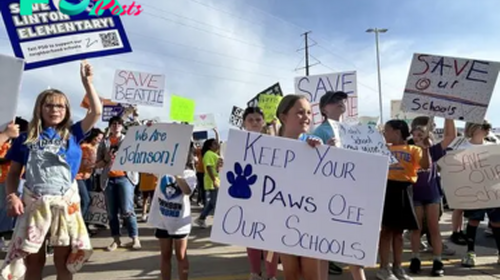
M 346 112 L 342 115 L 345 122 L 355 122 L 358 118 L 358 91 L 356 71 L 313 75 L 295 78 L 295 93 L 305 95 L 311 102 L 312 126 L 323 121 L 319 109 L 319 101 L 327 91 L 343 91 L 347 93 Z

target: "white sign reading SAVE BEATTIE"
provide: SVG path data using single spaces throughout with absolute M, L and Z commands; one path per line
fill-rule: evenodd
M 112 101 L 163 107 L 165 75 L 116 70 Z

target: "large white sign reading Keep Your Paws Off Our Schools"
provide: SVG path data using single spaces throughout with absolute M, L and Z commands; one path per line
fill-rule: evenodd
M 387 157 L 234 129 L 226 149 L 212 241 L 376 263 Z

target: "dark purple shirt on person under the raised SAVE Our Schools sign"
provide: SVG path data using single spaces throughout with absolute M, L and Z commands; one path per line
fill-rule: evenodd
M 446 151 L 438 143 L 429 148 L 429 153 L 432 159 L 430 170 L 419 171 L 417 182 L 413 184 L 413 200 L 415 201 L 433 201 L 442 196 L 437 162 L 446 155 Z

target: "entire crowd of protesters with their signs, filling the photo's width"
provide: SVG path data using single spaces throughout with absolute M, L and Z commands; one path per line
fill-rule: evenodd
M 22 73 L 43 67 L 24 58 L 0 55 L 0 68 L 19 70 L 0 77 L 2 87 L 18 92 Z M 463 77 L 429 71 L 428 61 L 460 65 L 445 72 Z M 29 118 L 16 108 L 1 115 L 0 278 L 42 279 L 53 256 L 57 279 L 71 280 L 92 259 L 96 234 L 109 235 L 108 252 L 141 250 L 140 223 L 155 230 L 162 280 L 189 279 L 192 226 L 211 231 L 211 242 L 246 247 L 249 280 L 335 279 L 344 265 L 354 280 L 374 266 L 379 280 L 442 277 L 450 255 L 475 267 L 486 217 L 500 252 L 500 142 L 485 118 L 499 65 L 415 54 L 400 115 L 385 122 L 358 116 L 356 72 L 297 77 L 293 94 L 277 83 L 233 106 L 222 141 L 213 112 L 195 114 L 188 98 L 169 96 L 169 121 L 141 116 L 138 106 L 163 106 L 164 75 L 119 69 L 108 99 L 94 86 L 99 69 L 83 59 L 72 73 L 82 119 L 55 88 L 41 90 Z M 449 237 L 440 231 L 445 211 Z

